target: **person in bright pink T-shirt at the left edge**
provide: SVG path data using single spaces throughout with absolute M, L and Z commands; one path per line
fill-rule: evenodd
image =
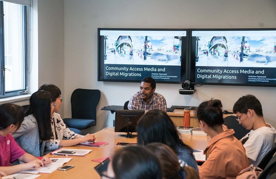
M 0 106 L 0 171 L 13 174 L 21 170 L 36 169 L 44 164 L 50 164 L 48 157 L 41 160 L 21 149 L 10 132 L 21 127 L 24 119 L 24 109 L 15 104 L 5 103 Z M 25 164 L 10 166 L 10 162 L 20 160 Z

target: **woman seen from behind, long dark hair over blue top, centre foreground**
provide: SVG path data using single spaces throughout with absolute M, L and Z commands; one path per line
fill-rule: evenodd
M 198 166 L 193 156 L 193 149 L 186 145 L 170 117 L 159 109 L 148 111 L 137 124 L 137 142 L 139 145 L 147 145 L 160 142 L 168 145 L 179 160 L 184 161 L 198 172 Z M 185 172 L 183 173 L 185 178 Z

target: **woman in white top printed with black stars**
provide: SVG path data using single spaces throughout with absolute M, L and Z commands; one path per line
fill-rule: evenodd
M 56 150 L 60 147 L 73 146 L 81 142 L 95 141 L 94 134 L 80 135 L 71 131 L 63 122 L 60 115 L 57 113 L 62 104 L 62 97 L 60 89 L 54 84 L 43 84 L 39 87 L 39 91 L 49 91 L 55 98 L 55 104 L 51 113 L 51 131 L 53 137 L 46 141 L 47 150 Z

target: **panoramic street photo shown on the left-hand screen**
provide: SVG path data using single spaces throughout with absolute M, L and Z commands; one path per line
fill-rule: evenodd
M 105 64 L 180 65 L 181 40 L 174 36 L 108 36 Z

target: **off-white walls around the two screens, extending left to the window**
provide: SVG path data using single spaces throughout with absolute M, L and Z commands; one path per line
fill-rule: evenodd
M 107 105 L 123 105 L 139 89 L 139 83 L 97 81 L 98 27 L 276 27 L 275 0 L 39 0 L 38 7 L 39 85 L 51 82 L 62 89 L 64 117 L 71 117 L 70 96 L 74 89 L 90 88 L 101 91 L 101 100 L 97 107 L 97 125 L 87 132 L 112 126 L 115 115 L 100 109 Z M 63 78 L 64 84 L 62 84 Z M 180 88 L 180 84 L 157 84 L 156 92 L 164 95 L 169 107 L 196 106 L 213 97 L 221 99 L 224 109 L 232 109 L 235 101 L 242 95 L 253 94 L 262 103 L 265 120 L 276 127 L 275 87 L 206 85 L 196 87 L 194 95 L 180 95 L 178 93 Z M 61 114 L 63 116 L 62 112 Z

